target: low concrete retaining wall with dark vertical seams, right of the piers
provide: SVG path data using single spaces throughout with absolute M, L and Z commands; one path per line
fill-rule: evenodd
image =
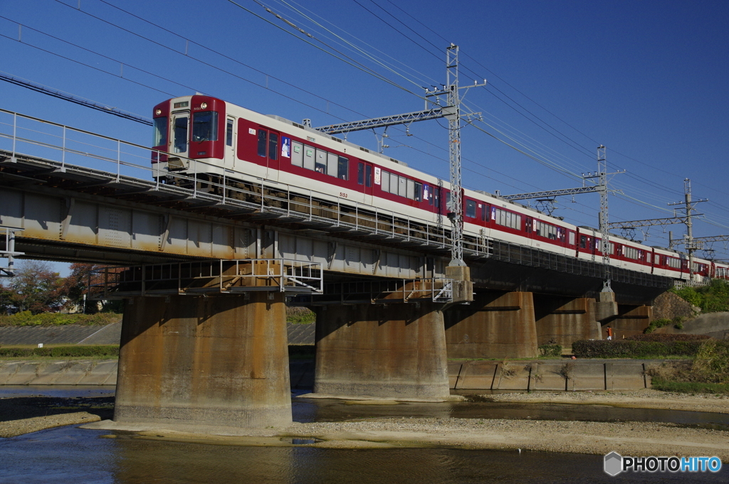
M 662 361 L 662 360 L 661 360 Z M 450 362 L 451 389 L 634 390 L 650 388 L 652 360 L 520 360 Z

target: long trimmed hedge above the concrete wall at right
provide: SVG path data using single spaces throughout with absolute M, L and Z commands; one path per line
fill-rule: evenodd
M 723 344 L 723 342 L 721 342 Z M 578 358 L 651 358 L 698 354 L 704 340 L 688 341 L 636 341 L 580 340 L 572 344 L 572 352 Z M 727 341 L 729 344 L 729 341 Z

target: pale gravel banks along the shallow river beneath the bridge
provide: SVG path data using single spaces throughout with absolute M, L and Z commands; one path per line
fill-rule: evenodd
M 488 394 L 495 402 L 584 403 L 729 413 L 729 398 L 636 392 L 534 392 Z M 34 400 L 35 399 L 35 400 Z M 59 425 L 111 417 L 113 397 L 0 399 L 0 435 L 9 437 Z M 372 402 L 368 402 L 372 403 Z M 82 406 L 86 408 L 82 408 Z M 35 410 L 34 410 L 35 408 Z M 79 410 L 87 410 L 79 412 Z M 32 416 L 35 411 L 35 418 Z M 65 412 L 65 413 L 64 413 Z M 74 412 L 74 413 L 68 413 Z M 45 416 L 45 413 L 57 413 Z M 295 423 L 278 429 L 209 429 L 120 424 L 111 420 L 84 428 L 135 432 L 147 439 L 218 445 L 309 445 L 320 448 L 446 447 L 593 453 L 633 456 L 719 456 L 729 462 L 729 429 L 657 422 L 538 421 L 486 418 L 364 418 Z M 184 432 L 181 432 L 184 430 Z M 114 435 L 109 435 L 114 437 Z

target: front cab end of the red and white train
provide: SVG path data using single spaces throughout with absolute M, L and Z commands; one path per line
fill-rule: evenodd
M 163 183 L 212 191 L 225 170 L 225 101 L 193 95 L 153 111 L 152 167 Z

